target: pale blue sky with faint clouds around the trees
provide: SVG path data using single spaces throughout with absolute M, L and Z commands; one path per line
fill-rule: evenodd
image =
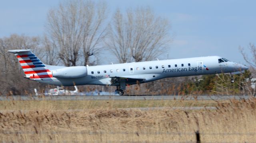
M 61 0 L 1 0 L 0 37 L 8 37 L 12 33 L 43 35 L 47 12 L 59 2 Z M 156 15 L 169 20 L 172 27 L 170 37 L 173 41 L 159 59 L 167 59 L 167 54 L 169 59 L 218 55 L 230 61 L 246 64 L 238 47 L 244 47 L 250 57 L 248 45 L 256 44 L 255 0 L 106 2 L 110 17 L 116 8 L 125 11 L 130 7 L 150 6 Z

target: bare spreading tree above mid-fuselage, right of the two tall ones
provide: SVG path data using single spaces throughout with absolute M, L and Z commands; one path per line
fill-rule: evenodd
M 128 9 L 126 16 L 116 10 L 105 43 L 120 63 L 148 61 L 164 53 L 168 43 L 170 24 L 156 16 L 151 8 Z

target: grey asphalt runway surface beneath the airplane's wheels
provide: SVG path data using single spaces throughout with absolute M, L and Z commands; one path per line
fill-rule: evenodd
M 0 96 L 0 100 L 227 100 L 227 99 L 248 99 L 250 96 Z

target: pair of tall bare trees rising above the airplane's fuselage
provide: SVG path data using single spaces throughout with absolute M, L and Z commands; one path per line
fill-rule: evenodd
M 106 2 L 92 0 L 68 0 L 51 8 L 44 35 L 48 61 L 95 65 L 102 51 L 119 63 L 146 61 L 164 53 L 171 41 L 170 23 L 149 7 L 108 13 Z

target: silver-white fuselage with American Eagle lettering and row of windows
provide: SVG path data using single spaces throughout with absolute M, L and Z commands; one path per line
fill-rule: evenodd
M 160 61 L 145 61 L 137 63 L 121 63 L 113 65 L 88 66 L 87 76 L 82 78 L 55 78 L 49 79 L 31 79 L 38 82 L 58 85 L 114 85 L 110 77 L 124 77 L 143 79 L 142 82 L 150 82 L 162 78 L 178 76 L 195 76 L 203 74 L 228 73 L 247 70 L 248 67 L 231 61 L 219 62 L 222 57 L 194 57 L 185 59 L 169 59 Z M 54 70 L 55 66 L 48 66 L 48 69 Z M 58 69 L 58 66 L 56 66 Z M 136 84 L 136 82 L 126 81 L 126 84 Z

